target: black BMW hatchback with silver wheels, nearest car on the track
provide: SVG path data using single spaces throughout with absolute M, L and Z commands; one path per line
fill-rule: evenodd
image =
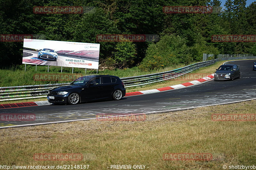
M 124 83 L 117 76 L 89 75 L 77 78 L 69 85 L 49 90 L 50 103 L 78 104 L 84 101 L 112 98 L 120 100 L 125 95 Z

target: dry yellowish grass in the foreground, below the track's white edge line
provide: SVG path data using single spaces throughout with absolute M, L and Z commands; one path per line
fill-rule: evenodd
M 145 169 L 223 169 L 255 165 L 255 122 L 216 122 L 212 114 L 255 114 L 256 101 L 146 115 L 145 121 L 79 121 L 0 130 L 0 165 L 146 165 Z M 81 161 L 35 161 L 35 153 L 81 153 Z M 211 153 L 210 161 L 166 161 L 164 153 Z M 109 168 L 108 168 L 109 167 Z M 113 168 L 112 168 L 113 169 Z M 228 169 L 228 168 L 227 168 Z

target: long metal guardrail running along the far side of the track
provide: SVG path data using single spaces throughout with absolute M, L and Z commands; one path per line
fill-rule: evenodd
M 121 80 L 123 81 L 125 87 L 147 85 L 147 84 L 179 77 L 181 75 L 187 74 L 196 69 L 212 65 L 217 61 L 255 59 L 255 58 L 256 58 L 255 56 L 218 58 L 215 60 L 191 64 L 175 70 L 164 71 L 160 73 L 154 73 L 154 74 L 148 74 L 148 75 L 142 75 L 142 76 L 126 77 L 126 78 L 121 78 Z M 58 87 L 60 85 L 68 85 L 68 84 L 69 83 L 0 87 L 0 94 L 1 94 L 0 101 L 46 97 L 48 90 L 54 87 Z

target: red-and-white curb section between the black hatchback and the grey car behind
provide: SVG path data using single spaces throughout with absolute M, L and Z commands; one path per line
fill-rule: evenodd
M 171 86 L 167 86 L 167 87 L 163 87 L 163 88 L 159 88 L 159 89 L 144 90 L 144 91 L 139 91 L 139 92 L 129 92 L 129 93 L 126 93 L 125 96 L 135 96 L 135 95 L 141 95 L 141 94 L 163 92 L 163 91 L 167 91 L 167 90 L 181 89 L 181 88 L 185 88 L 185 87 L 188 87 L 188 86 L 191 86 L 191 85 L 197 85 L 197 84 L 200 84 L 200 83 L 204 83 L 204 82 L 209 81 L 213 78 L 214 78 L 214 74 L 211 74 L 211 75 L 206 76 L 204 78 L 193 80 L 193 81 L 190 81 L 190 82 L 187 82 L 187 83 L 182 83 L 182 84 L 179 84 L 179 85 L 171 85 Z

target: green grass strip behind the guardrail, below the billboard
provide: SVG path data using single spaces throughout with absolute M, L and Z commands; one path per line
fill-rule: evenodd
M 124 77 L 132 77 L 132 76 L 139 76 L 139 75 L 145 75 L 145 74 L 152 74 L 156 72 L 163 72 L 168 70 L 177 69 L 180 67 L 184 67 L 184 64 L 180 65 L 173 65 L 170 67 L 167 67 L 165 69 L 159 69 L 159 70 L 153 70 L 153 71 L 141 71 L 138 67 L 132 67 L 124 70 L 99 70 L 98 74 L 109 74 L 109 75 L 115 75 L 120 78 Z M 6 86 L 20 86 L 20 85 L 40 85 L 40 84 L 55 84 L 55 83 L 68 83 L 71 82 L 73 79 L 67 81 L 35 81 L 34 75 L 35 74 L 61 74 L 61 67 L 53 67 L 49 66 L 49 72 L 47 72 L 48 66 L 36 66 L 35 65 L 28 65 L 26 66 L 25 71 L 25 65 L 18 65 L 12 68 L 8 69 L 0 69 L 0 87 L 6 87 Z M 72 74 L 72 68 L 62 68 L 62 74 Z M 78 77 L 84 76 L 84 75 L 91 75 L 96 74 L 96 70 L 87 69 L 85 74 L 85 69 L 82 68 L 74 68 L 74 74 L 77 74 Z

